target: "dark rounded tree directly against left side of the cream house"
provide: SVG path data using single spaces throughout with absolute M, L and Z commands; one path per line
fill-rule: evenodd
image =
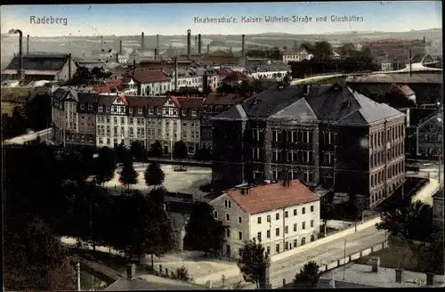
M 185 226 L 184 249 L 217 253 L 223 248 L 225 228 L 214 219 L 214 207 L 198 203 Z

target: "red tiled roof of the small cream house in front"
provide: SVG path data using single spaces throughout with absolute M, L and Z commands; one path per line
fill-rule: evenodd
M 318 197 L 298 180 L 284 183 L 271 183 L 253 187 L 248 194 L 241 189 L 226 191 L 235 203 L 249 214 L 272 211 L 282 207 L 291 207 L 318 200 Z

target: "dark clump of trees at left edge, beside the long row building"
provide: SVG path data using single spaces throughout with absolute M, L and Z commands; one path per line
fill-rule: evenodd
M 25 99 L 25 98 L 24 98 Z M 17 104 L 11 114 L 2 114 L 3 139 L 26 134 L 27 130 L 35 132 L 51 126 L 51 96 L 36 94 Z

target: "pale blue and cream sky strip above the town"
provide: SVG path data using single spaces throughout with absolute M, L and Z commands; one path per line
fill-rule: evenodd
M 312 17 L 312 21 L 265 23 L 266 16 Z M 332 21 L 332 15 L 359 20 Z M 242 17 L 260 18 L 246 23 Z M 316 21 L 324 18 L 327 21 Z M 65 19 L 37 24 L 41 18 Z M 230 18 L 237 23 L 194 23 L 199 18 Z M 33 20 L 35 20 L 33 22 Z M 31 23 L 33 22 L 33 23 Z M 441 1 L 302 2 L 225 4 L 92 4 L 2 5 L 1 32 L 20 29 L 35 37 L 135 36 L 258 33 L 322 34 L 346 31 L 409 31 L 441 28 Z

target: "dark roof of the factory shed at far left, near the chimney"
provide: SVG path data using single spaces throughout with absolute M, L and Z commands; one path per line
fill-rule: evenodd
M 23 55 L 23 68 L 27 70 L 60 71 L 68 61 L 69 54 L 28 54 Z M 19 69 L 19 56 L 12 58 L 6 69 Z

